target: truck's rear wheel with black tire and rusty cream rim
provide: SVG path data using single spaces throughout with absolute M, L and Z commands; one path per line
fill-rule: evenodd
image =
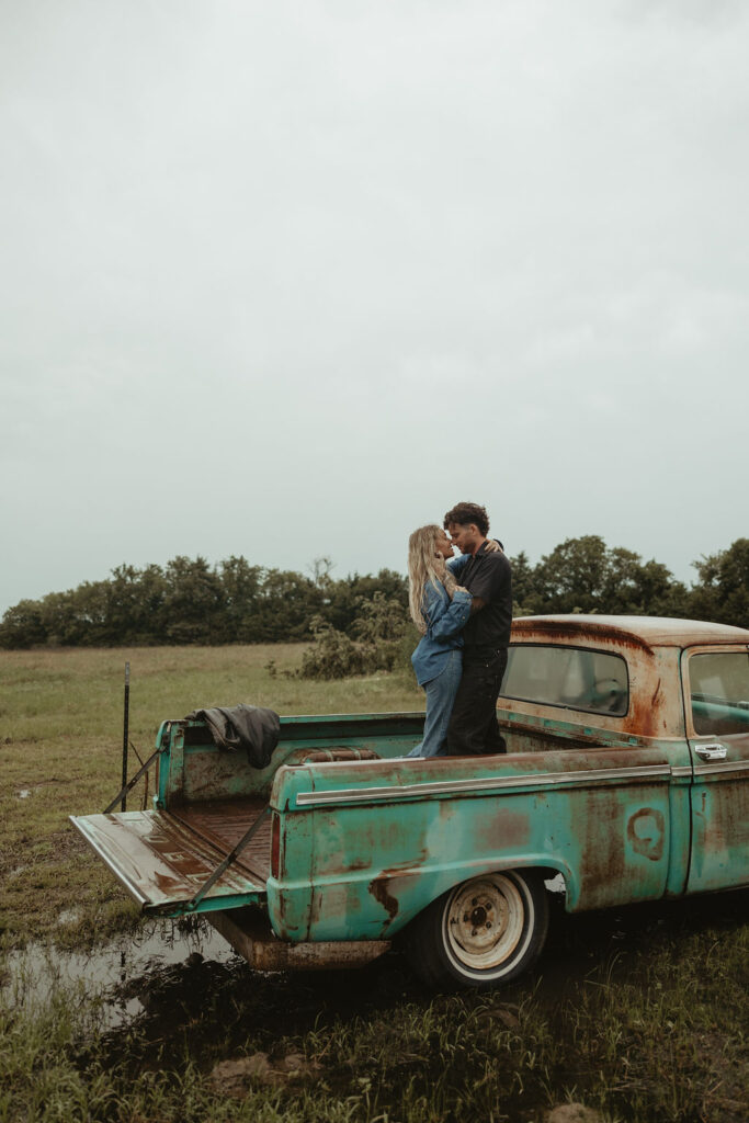
M 503 869 L 448 889 L 410 924 L 407 953 L 435 989 L 488 989 L 518 978 L 544 948 L 549 905 L 536 870 Z

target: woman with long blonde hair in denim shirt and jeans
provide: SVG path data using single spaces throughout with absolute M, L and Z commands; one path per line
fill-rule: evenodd
M 411 663 L 427 694 L 423 740 L 409 757 L 445 755 L 447 727 L 463 673 L 460 632 L 471 615 L 471 593 L 456 585 L 447 569 L 446 562 L 451 557 L 450 539 L 441 527 L 421 527 L 409 538 L 409 608 L 422 634 Z

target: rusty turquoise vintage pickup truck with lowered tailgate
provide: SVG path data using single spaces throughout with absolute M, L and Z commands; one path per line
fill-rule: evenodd
M 154 810 L 73 818 L 143 907 L 204 913 L 262 969 L 365 962 L 402 938 L 430 985 L 539 955 L 569 912 L 749 885 L 749 631 L 637 617 L 514 621 L 508 754 L 405 760 L 423 714 L 282 718 L 271 765 L 166 721 Z

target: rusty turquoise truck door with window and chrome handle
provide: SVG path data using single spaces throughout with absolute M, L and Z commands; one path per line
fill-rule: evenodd
M 682 654 L 693 766 L 687 893 L 749 885 L 749 648 Z

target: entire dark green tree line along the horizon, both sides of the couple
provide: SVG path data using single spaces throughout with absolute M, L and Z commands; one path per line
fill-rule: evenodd
M 597 535 L 568 538 L 532 565 L 511 558 L 515 615 L 599 612 L 687 617 L 749 628 L 749 538 L 694 563 L 687 587 L 665 565 Z M 0 623 L 0 648 L 163 643 L 268 643 L 325 631 L 356 638 L 363 620 L 405 621 L 408 581 L 392 569 L 334 578 L 318 559 L 309 575 L 175 557 L 165 566 L 121 565 L 111 576 L 24 600 Z

